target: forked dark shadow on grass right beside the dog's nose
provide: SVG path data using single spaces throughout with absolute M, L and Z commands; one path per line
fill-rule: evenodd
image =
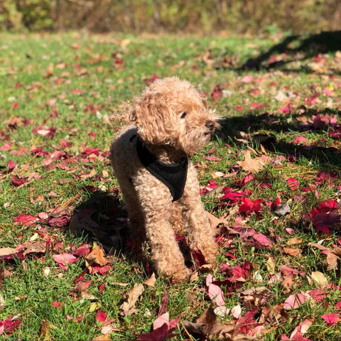
M 292 119 L 290 123 L 288 122 L 289 116 L 276 116 L 267 112 L 263 114 L 250 113 L 238 117 L 225 117 L 220 122 L 222 129 L 219 134 L 222 136 L 222 139 L 230 136 L 234 140 L 239 139 L 239 141 L 235 140 L 237 144 L 242 144 L 243 142 L 240 141 L 242 137 L 239 135 L 239 132 L 244 131 L 251 136 L 250 142 L 254 142 L 255 145 L 262 144 L 267 151 L 290 155 L 294 158 L 304 156 L 308 160 L 319 161 L 320 168 L 330 169 L 331 166 L 341 168 L 341 152 L 338 148 L 288 143 L 282 139 L 276 139 L 276 136 L 272 134 L 291 131 L 294 134 L 298 133 L 297 136 L 299 136 L 304 131 L 321 131 L 321 129 L 314 127 L 311 123 L 313 116 L 318 113 L 329 114 L 330 116 L 339 114 L 337 110 L 332 109 L 318 111 L 308 109 L 304 114 L 291 114 L 290 117 Z M 307 123 L 307 121 L 310 123 Z M 325 132 L 325 136 L 327 134 Z

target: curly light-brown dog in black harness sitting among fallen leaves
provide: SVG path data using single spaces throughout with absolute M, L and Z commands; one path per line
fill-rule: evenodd
M 210 140 L 217 115 L 190 82 L 168 77 L 156 80 L 134 98 L 134 125 L 115 136 L 111 161 L 129 213 L 131 234 L 145 238 L 158 274 L 175 282 L 189 274 L 175 240 L 185 229 L 191 249 L 212 263 L 217 244 L 200 199 L 197 173 L 187 152 Z

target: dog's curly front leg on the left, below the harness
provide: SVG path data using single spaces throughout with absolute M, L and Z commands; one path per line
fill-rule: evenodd
M 145 174 L 144 182 L 135 184 L 144 212 L 146 237 L 151 246 L 151 256 L 158 274 L 171 276 L 172 281 L 183 281 L 190 274 L 170 223 L 172 196 L 166 185 Z M 146 185 L 148 184 L 148 185 Z

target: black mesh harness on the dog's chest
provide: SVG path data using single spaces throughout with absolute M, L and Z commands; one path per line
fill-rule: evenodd
M 180 199 L 183 195 L 183 189 L 187 179 L 188 157 L 187 155 L 180 158 L 179 163 L 163 163 L 158 160 L 144 146 L 139 134 L 131 137 L 131 141 L 136 139 L 136 152 L 144 167 L 153 174 L 158 180 L 164 183 L 171 191 L 173 201 Z

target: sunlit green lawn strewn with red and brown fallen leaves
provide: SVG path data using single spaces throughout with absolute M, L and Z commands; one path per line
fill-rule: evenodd
M 5 340 L 340 340 L 335 45 L 278 34 L 0 41 Z M 190 156 L 205 209 L 220 218 L 220 255 L 209 266 L 188 255 L 194 274 L 181 285 L 144 283 L 148 247 L 129 239 L 108 158 L 124 102 L 170 75 L 193 82 L 222 116 Z

